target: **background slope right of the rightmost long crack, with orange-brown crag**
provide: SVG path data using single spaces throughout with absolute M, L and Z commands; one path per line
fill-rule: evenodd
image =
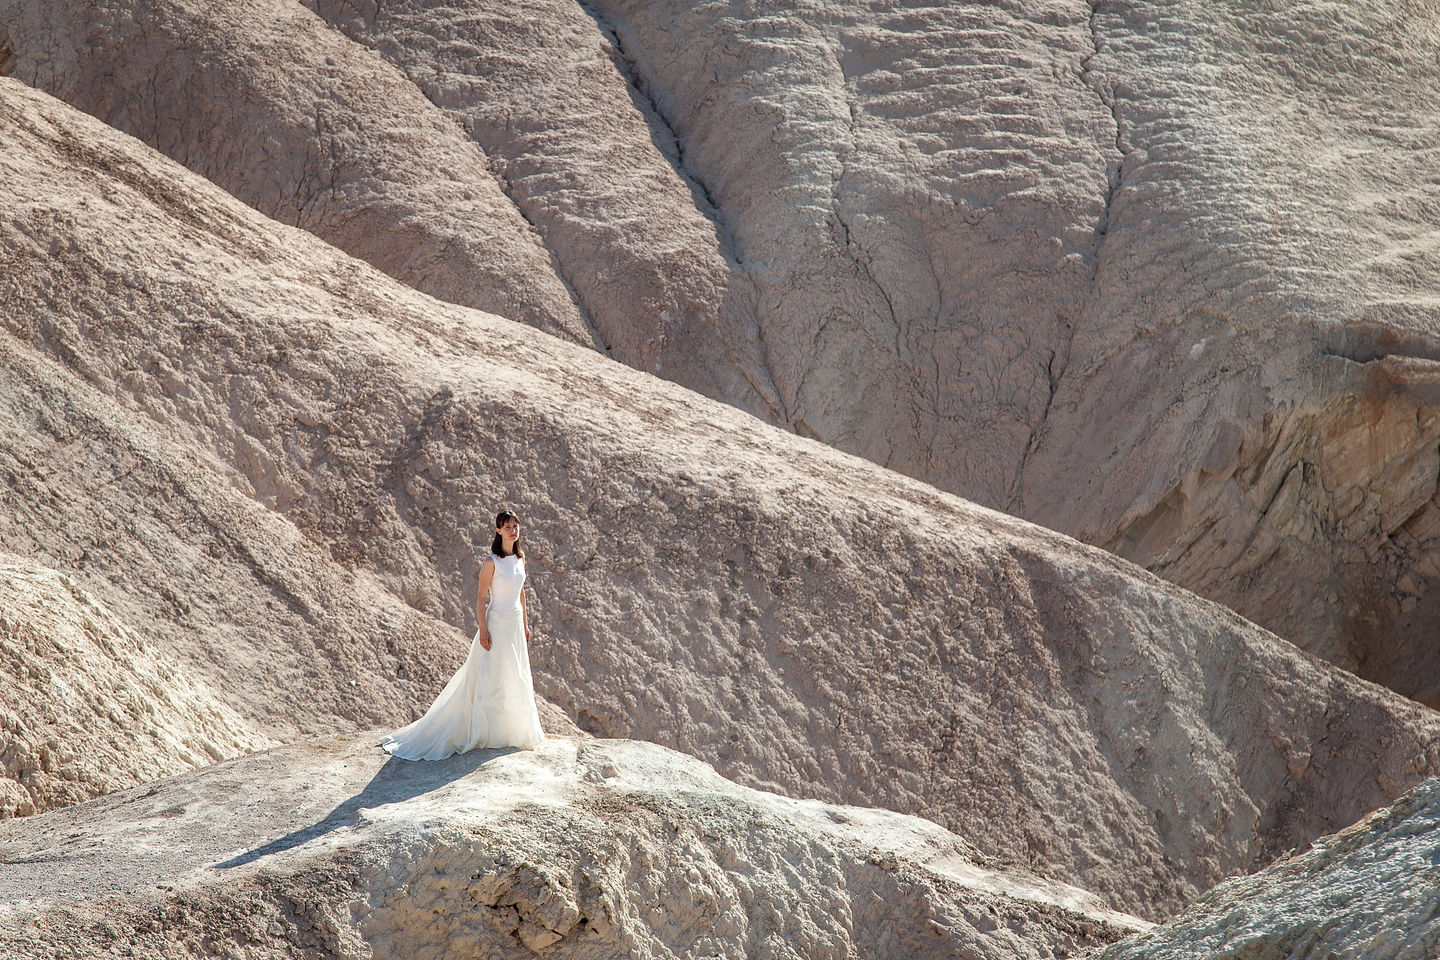
M 1388 3 L 1094 26 L 1123 161 L 1022 512 L 1434 699 L 1440 37 Z

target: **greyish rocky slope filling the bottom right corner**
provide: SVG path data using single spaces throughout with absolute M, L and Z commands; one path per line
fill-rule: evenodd
M 1096 960 L 1428 960 L 1440 951 L 1440 782 L 1221 884 L 1162 927 Z

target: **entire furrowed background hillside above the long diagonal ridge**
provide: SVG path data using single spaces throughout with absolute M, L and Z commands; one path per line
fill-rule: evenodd
M 1440 705 L 1426 4 L 0 0 L 0 49 L 418 289 Z

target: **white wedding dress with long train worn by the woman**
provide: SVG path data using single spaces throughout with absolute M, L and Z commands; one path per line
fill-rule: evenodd
M 520 609 L 526 561 L 490 558 L 495 563 L 485 607 L 490 649 L 480 645 L 477 630 L 465 664 L 425 715 L 380 741 L 402 760 L 444 760 L 477 747 L 534 747 L 544 740 Z

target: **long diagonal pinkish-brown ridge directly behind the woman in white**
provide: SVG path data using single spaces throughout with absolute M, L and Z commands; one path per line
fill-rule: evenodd
M 539 688 L 590 733 L 1128 913 L 1440 769 L 1430 711 L 1113 556 L 432 301 L 13 81 L 0 111 L 0 537 L 266 731 L 423 705 L 508 501 Z

